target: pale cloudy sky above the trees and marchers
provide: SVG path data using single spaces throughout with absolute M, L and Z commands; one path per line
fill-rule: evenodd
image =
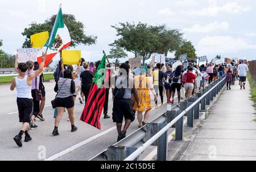
M 85 24 L 86 34 L 97 36 L 96 45 L 78 46 L 87 61 L 109 52 L 119 22 L 166 24 L 181 29 L 192 41 L 198 56 L 256 59 L 256 1 L 254 0 L 2 0 L 0 39 L 7 53 L 13 54 L 24 42 L 21 35 L 31 21 L 42 23 L 56 14 L 60 3 L 63 13 L 74 14 Z M 173 57 L 173 54 L 169 54 Z M 129 54 L 133 57 L 133 54 Z

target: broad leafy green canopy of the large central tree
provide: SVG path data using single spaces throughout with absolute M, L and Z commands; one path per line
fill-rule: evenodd
M 166 25 L 148 25 L 145 23 L 119 23 L 112 25 L 117 31 L 117 40 L 110 45 L 118 45 L 135 57 L 143 57 L 143 65 L 153 53 L 168 54 L 175 51 L 183 42 L 183 34 L 177 29 L 168 29 Z

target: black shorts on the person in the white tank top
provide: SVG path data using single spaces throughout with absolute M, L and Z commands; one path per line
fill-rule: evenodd
M 33 100 L 30 98 L 17 98 L 17 105 L 19 111 L 19 122 L 31 122 L 31 115 L 33 113 Z

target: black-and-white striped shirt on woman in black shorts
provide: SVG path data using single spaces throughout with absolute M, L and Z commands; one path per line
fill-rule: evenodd
M 75 81 L 73 81 L 72 79 L 60 78 L 55 85 L 54 91 L 59 91 L 59 93 L 57 94 L 58 98 L 73 96 L 73 93 L 75 93 Z

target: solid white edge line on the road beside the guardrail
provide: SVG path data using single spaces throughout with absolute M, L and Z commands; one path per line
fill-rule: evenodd
M 166 104 L 166 101 L 164 102 L 164 104 Z M 161 106 L 161 104 L 159 104 L 158 106 Z M 154 110 L 154 109 L 155 109 L 155 108 L 152 108 L 151 110 Z M 80 143 L 78 143 L 78 144 L 76 144 L 76 145 L 73 145 L 72 147 L 70 147 L 70 148 L 68 148 L 68 149 L 65 149 L 64 151 L 61 151 L 60 153 L 57 153 L 57 154 L 55 154 L 55 155 L 53 155 L 53 156 L 47 158 L 47 159 L 44 160 L 44 161 L 53 161 L 53 160 L 56 160 L 57 158 L 63 156 L 64 154 L 67 154 L 67 153 L 69 153 L 69 152 L 71 152 L 71 151 L 74 151 L 75 149 L 81 147 L 82 145 L 85 145 L 85 144 L 89 143 L 90 141 L 93 141 L 93 140 L 95 140 L 95 139 L 98 139 L 98 137 L 101 137 L 101 136 L 103 136 L 103 135 L 105 135 L 105 134 L 108 134 L 109 132 L 115 130 L 116 128 L 117 128 L 116 126 L 114 126 L 114 127 L 112 127 L 112 128 L 109 128 L 108 130 L 103 131 L 103 132 L 101 132 L 100 134 L 97 134 L 97 135 L 95 135 L 95 136 L 92 136 L 92 137 L 90 137 L 89 139 L 86 139 L 86 140 L 84 140 L 84 141 L 81 141 Z

